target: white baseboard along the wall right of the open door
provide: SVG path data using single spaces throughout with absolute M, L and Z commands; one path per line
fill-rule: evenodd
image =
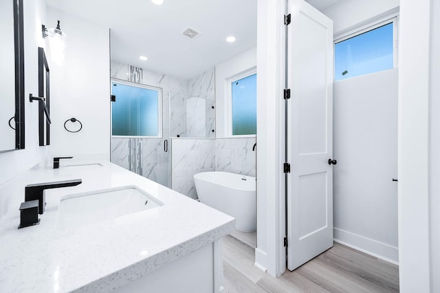
M 399 265 L 399 248 L 339 228 L 333 228 L 333 240 L 373 257 Z

